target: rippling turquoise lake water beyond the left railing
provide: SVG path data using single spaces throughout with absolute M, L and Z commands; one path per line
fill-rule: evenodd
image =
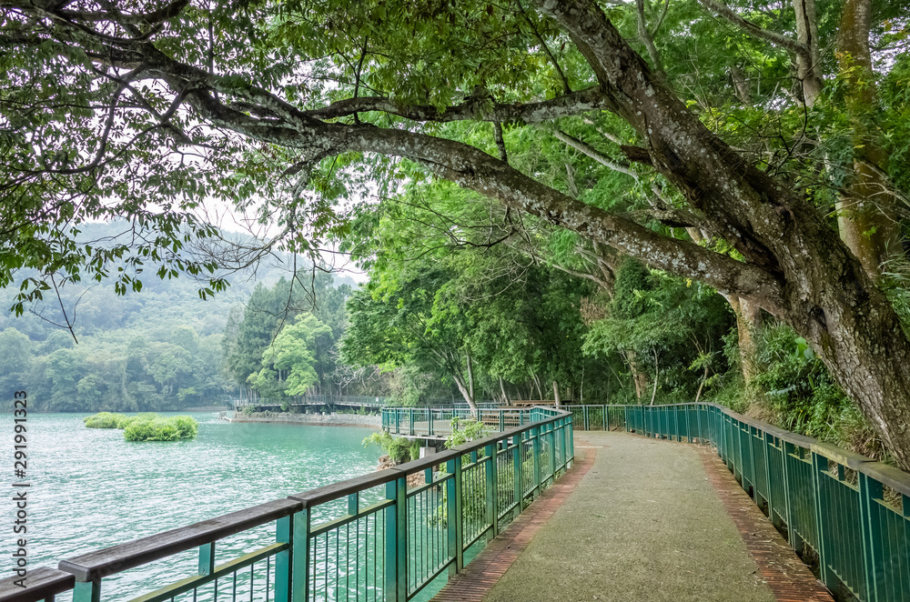
M 85 416 L 28 416 L 29 567 L 56 566 L 62 558 L 357 477 L 375 470 L 381 453 L 362 446 L 367 428 L 231 424 L 201 413 L 192 415 L 199 421 L 194 440 L 131 443 L 122 431 L 86 428 Z M 8 449 L 12 424 L 11 414 Z M 12 526 L 14 502 L 4 513 Z M 11 548 L 12 527 L 7 532 L 4 547 Z M 240 534 L 219 547 L 217 561 L 273 540 L 274 527 Z M 106 578 L 103 598 L 159 587 L 173 580 L 177 566 L 188 576 L 195 558 L 190 551 Z M 6 564 L 0 577 L 12 575 Z

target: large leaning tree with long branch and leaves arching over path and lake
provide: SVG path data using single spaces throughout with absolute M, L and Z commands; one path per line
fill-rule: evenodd
M 209 195 L 258 203 L 298 250 L 332 227 L 333 195 L 372 190 L 353 162 L 366 159 L 378 177 L 396 169 L 377 157 L 402 157 L 778 316 L 910 467 L 910 341 L 806 187 L 705 125 L 716 120 L 696 112 L 698 90 L 678 92 L 614 25 L 627 13 L 592 0 L 533 4 L 0 0 L 2 216 L 12 241 L 0 280 L 19 266 L 106 270 L 109 253 L 70 244 L 66 226 L 111 213 L 165 233 L 140 244 L 131 266 L 179 268 L 173 224 Z M 652 63 L 658 28 L 629 32 Z M 510 164 L 502 124 L 602 111 L 624 123 L 626 155 L 677 195 L 680 225 L 710 233 L 721 250 Z M 489 128 L 493 154 L 439 135 L 455 121 Z

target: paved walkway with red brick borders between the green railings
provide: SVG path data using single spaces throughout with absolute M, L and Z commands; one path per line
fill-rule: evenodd
M 533 538 L 507 529 L 475 560 L 486 563 L 478 566 L 482 570 L 469 565 L 439 599 L 831 599 L 757 508 L 740 516 L 749 510 L 749 498 L 705 448 L 587 432 L 576 436 L 575 453 L 587 456 L 579 463 L 587 472 L 571 478 L 571 471 L 563 478 L 577 485 L 566 483 L 570 491 L 562 487 L 526 511 L 530 515 L 543 502 L 538 514 L 544 516 L 526 519 L 533 523 Z M 555 504 L 552 497 L 564 501 Z M 775 583 L 782 579 L 784 586 Z

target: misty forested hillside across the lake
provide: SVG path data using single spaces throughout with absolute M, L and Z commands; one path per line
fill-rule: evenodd
M 81 236 L 104 239 L 123 229 L 92 224 Z M 251 273 L 229 276 L 232 286 L 206 300 L 187 277 L 150 275 L 140 292 L 124 296 L 109 278 L 70 283 L 60 288 L 59 301 L 47 292 L 18 317 L 7 311 L 17 290 L 0 289 L 0 390 L 25 389 L 35 409 L 45 411 L 220 406 L 222 396 L 239 392 L 223 366 L 230 316 L 286 274 L 287 267 L 259 266 L 257 280 Z

